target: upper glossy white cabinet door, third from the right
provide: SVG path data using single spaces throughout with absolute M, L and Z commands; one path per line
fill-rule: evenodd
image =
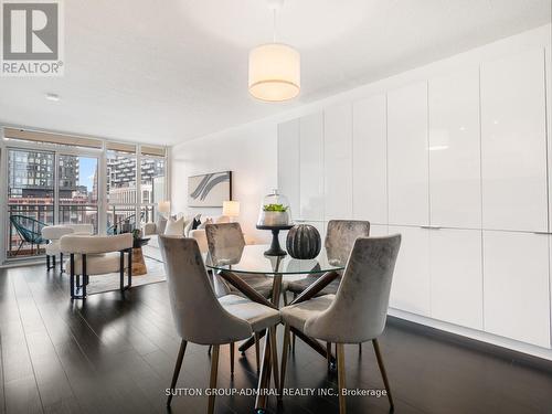
M 388 93 L 390 224 L 428 224 L 427 84 Z

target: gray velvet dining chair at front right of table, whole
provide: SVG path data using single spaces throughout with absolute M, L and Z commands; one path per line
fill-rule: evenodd
M 344 343 L 371 340 L 385 384 L 393 399 L 380 353 L 378 337 L 385 328 L 391 282 L 401 235 L 359 237 L 354 242 L 336 295 L 315 297 L 280 310 L 285 323 L 279 391 L 284 388 L 290 328 L 327 343 L 337 344 L 339 412 L 346 412 Z M 328 347 L 329 348 L 329 347 Z

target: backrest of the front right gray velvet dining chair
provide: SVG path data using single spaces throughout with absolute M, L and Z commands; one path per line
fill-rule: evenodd
M 378 338 L 385 327 L 401 235 L 359 237 L 331 306 L 307 320 L 305 333 L 337 343 Z

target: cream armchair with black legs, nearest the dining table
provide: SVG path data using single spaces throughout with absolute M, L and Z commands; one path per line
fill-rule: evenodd
M 120 291 L 132 285 L 132 234 L 112 236 L 91 236 L 86 234 L 66 234 L 60 238 L 60 248 L 70 255 L 65 272 L 71 275 L 71 298 L 85 299 L 89 276 L 119 273 Z M 128 285 L 124 285 L 127 269 Z M 83 284 L 79 285 L 79 277 Z M 81 295 L 75 294 L 82 289 Z

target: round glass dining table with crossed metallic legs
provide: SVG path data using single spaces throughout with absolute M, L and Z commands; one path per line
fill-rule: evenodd
M 315 283 L 290 302 L 290 305 L 295 305 L 315 297 L 339 276 L 339 270 L 344 268 L 344 264 L 339 259 L 331 258 L 332 255 L 329 254 L 326 248 L 322 248 L 316 258 L 298 259 L 289 255 L 267 256 L 264 254 L 267 247 L 267 245 L 247 245 L 244 246 L 243 250 L 231 247 L 227 252 L 217 252 L 216 259 L 208 253 L 205 255 L 205 266 L 219 274 L 224 280 L 243 293 L 251 300 L 275 309 L 279 308 L 279 297 L 284 278 L 289 278 L 290 276 L 296 277 L 297 275 L 317 276 Z M 270 300 L 266 299 L 246 283 L 248 274 L 263 274 L 273 278 L 273 294 Z M 331 363 L 335 363 L 335 357 L 331 354 L 331 351 L 318 340 L 307 337 L 295 328 L 291 328 L 291 331 L 315 349 L 320 355 L 328 359 Z M 255 411 L 257 413 L 265 412 L 266 396 L 269 394 L 270 372 L 273 370 L 276 388 L 279 385 L 277 355 L 270 355 L 270 331 L 267 330 L 255 400 Z M 243 352 L 253 344 L 254 338 L 251 338 L 242 343 L 240 351 Z

